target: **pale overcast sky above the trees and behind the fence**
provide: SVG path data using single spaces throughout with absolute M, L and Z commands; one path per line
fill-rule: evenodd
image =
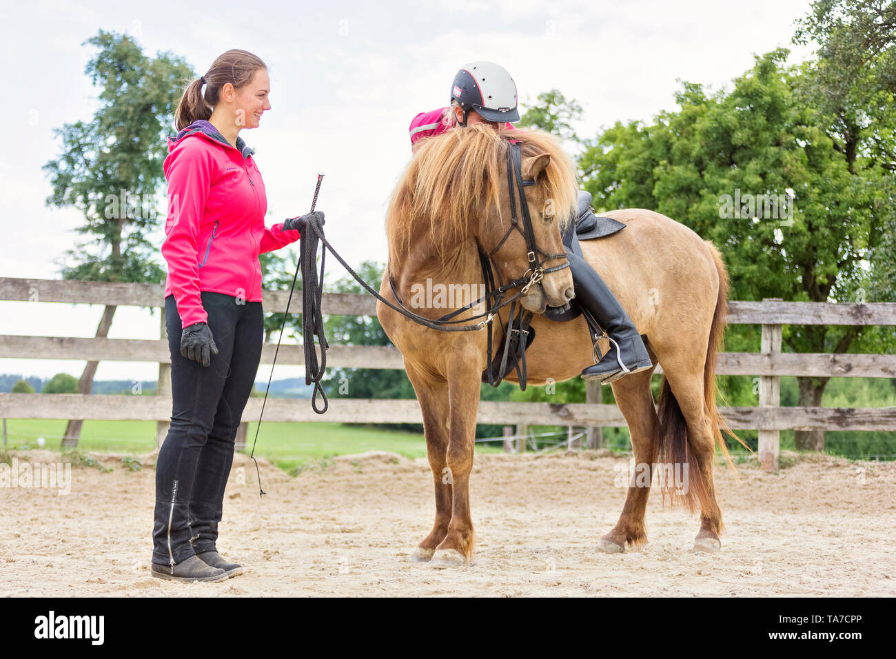
M 11 84 L 0 107 L 0 276 L 57 279 L 58 259 L 80 238 L 77 211 L 45 204 L 50 186 L 41 167 L 60 151 L 53 129 L 88 119 L 97 107 L 84 75 L 95 51 L 82 43 L 100 29 L 132 35 L 147 55 L 183 56 L 197 76 L 229 48 L 260 56 L 272 108 L 262 126 L 240 135 L 264 177 L 267 223 L 306 212 L 323 171 L 317 207 L 326 212 L 327 237 L 358 264 L 386 259 L 385 204 L 409 160 L 410 119 L 443 107 L 467 62 L 504 65 L 522 109 L 552 88 L 578 100 L 577 132 L 593 136 L 617 120 L 650 120 L 674 108 L 678 80 L 730 86 L 754 54 L 788 47 L 793 22 L 808 9 L 807 0 L 4 3 L 0 54 Z M 790 48 L 792 62 L 811 55 Z M 333 279 L 344 273 L 335 259 L 327 263 Z M 0 334 L 91 336 L 101 313 L 98 306 L 0 302 Z M 110 336 L 158 338 L 157 318 L 118 308 Z M 0 372 L 42 377 L 80 375 L 83 366 L 0 360 Z M 154 364 L 101 362 L 97 377 L 157 373 Z M 278 367 L 274 377 L 301 373 Z

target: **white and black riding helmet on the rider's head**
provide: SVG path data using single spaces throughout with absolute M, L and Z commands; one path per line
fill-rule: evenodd
M 463 110 L 464 124 L 472 109 L 486 121 L 519 121 L 516 109 L 516 82 L 494 62 L 470 62 L 454 76 L 451 90 Z

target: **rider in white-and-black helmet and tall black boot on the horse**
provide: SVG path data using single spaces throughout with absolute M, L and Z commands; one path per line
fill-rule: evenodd
M 416 150 L 419 140 L 442 134 L 455 126 L 487 123 L 495 128 L 500 124 L 513 129 L 508 122 L 519 119 L 516 83 L 510 74 L 493 62 L 472 62 L 454 76 L 448 108 L 421 112 L 410 122 L 411 151 Z M 589 204 L 590 195 L 581 193 L 580 220 L 591 212 Z M 619 377 L 650 369 L 650 356 L 632 319 L 599 274 L 582 258 L 582 250 L 575 238 L 575 222 L 570 222 L 564 235 L 564 247 L 573 274 L 575 300 L 610 339 L 607 354 L 599 363 L 582 370 L 582 377 L 597 379 L 606 385 Z M 597 338 L 597 335 L 593 338 L 595 343 Z

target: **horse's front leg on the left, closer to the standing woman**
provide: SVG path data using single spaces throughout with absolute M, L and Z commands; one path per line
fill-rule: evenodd
M 411 560 L 426 561 L 433 558 L 435 548 L 448 534 L 452 516 L 452 483 L 444 474 L 448 453 L 448 383 L 434 382 L 421 376 L 405 360 L 405 370 L 414 386 L 420 411 L 423 412 L 423 432 L 426 435 L 426 457 L 433 472 L 435 486 L 435 524 L 429 535 L 410 554 Z

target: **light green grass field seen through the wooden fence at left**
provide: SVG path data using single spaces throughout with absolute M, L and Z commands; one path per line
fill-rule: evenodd
M 38 438 L 44 448 L 59 450 L 65 431 L 65 420 L 6 420 L 9 449 L 37 448 Z M 249 423 L 248 453 L 252 448 L 257 422 Z M 78 450 L 83 452 L 139 455 L 155 447 L 155 421 L 84 421 Z M 391 451 L 409 458 L 426 455 L 422 435 L 396 432 L 341 423 L 273 423 L 264 422 L 258 435 L 255 455 L 269 458 L 289 473 L 310 464 L 319 464 L 333 455 L 350 455 L 365 451 Z M 477 451 L 500 452 L 498 447 L 477 445 Z

